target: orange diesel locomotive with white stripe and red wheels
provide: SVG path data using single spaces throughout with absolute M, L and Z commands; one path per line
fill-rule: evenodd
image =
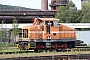
M 58 24 L 56 18 L 35 18 L 33 25 L 22 28 L 22 40 L 18 41 L 18 48 L 37 50 L 60 50 L 74 48 L 76 30 Z

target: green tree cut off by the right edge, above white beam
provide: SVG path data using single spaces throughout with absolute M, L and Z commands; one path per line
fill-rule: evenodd
M 82 5 L 82 21 L 83 23 L 90 23 L 90 2 L 85 2 Z

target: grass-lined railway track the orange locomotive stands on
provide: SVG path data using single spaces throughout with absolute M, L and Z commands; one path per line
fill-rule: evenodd
M 64 49 L 64 50 L 57 50 L 57 51 L 52 51 L 52 52 L 79 52 L 79 51 L 90 51 L 90 47 L 76 47 L 76 48 L 73 48 L 73 49 Z M 14 52 L 0 52 L 0 55 L 2 54 L 19 54 L 19 53 L 33 53 L 34 51 L 26 51 L 26 50 L 22 50 L 22 51 L 14 51 Z M 34 52 L 34 53 L 40 53 L 42 51 L 38 51 L 38 52 Z M 51 52 L 51 51 L 49 51 Z

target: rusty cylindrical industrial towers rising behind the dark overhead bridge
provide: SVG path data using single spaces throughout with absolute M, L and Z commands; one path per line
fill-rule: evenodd
M 67 0 L 51 0 L 51 10 L 57 10 L 59 6 L 66 6 Z M 48 10 L 48 0 L 41 0 L 41 10 Z

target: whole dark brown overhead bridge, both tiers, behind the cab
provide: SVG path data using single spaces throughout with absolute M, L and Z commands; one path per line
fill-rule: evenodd
M 54 18 L 56 10 L 0 10 L 0 22 L 12 23 L 16 18 L 19 23 L 32 23 L 32 18 Z

